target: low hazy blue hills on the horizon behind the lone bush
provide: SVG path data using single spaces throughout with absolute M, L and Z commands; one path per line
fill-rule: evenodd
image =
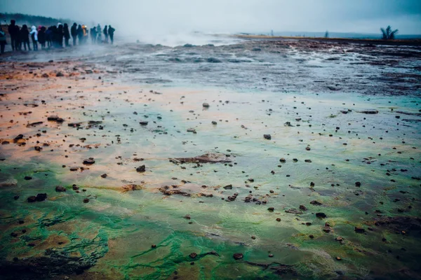
M 261 33 L 264 35 L 270 35 L 269 32 Z M 274 36 L 289 36 L 289 37 L 317 37 L 323 38 L 325 36 L 325 32 L 296 32 L 296 31 L 282 31 L 282 32 L 274 32 Z M 330 38 L 358 38 L 358 39 L 380 39 L 382 34 L 380 32 L 377 34 L 366 34 L 366 33 L 352 33 L 352 32 L 330 32 Z M 414 39 L 414 38 L 421 38 L 421 34 L 397 34 L 396 39 Z

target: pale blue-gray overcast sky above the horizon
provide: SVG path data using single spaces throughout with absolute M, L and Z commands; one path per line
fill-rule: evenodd
M 421 34 L 421 0 L 0 0 L 0 11 L 111 24 L 120 34 L 343 31 Z

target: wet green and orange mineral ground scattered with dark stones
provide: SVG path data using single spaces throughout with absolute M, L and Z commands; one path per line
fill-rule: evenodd
M 6 279 L 419 277 L 419 48 L 127 44 L 0 65 Z

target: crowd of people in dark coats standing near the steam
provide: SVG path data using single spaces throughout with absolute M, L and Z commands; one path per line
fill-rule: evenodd
M 11 25 L 8 26 L 8 33 L 11 36 L 12 50 L 31 50 L 29 38 L 32 41 L 32 50 L 38 50 L 38 45 L 41 48 L 63 48 L 69 47 L 69 40 L 73 38 L 73 45 L 86 44 L 88 35 L 91 35 L 91 43 L 114 43 L 114 31 L 111 25 L 105 25 L 104 29 L 98 24 L 97 27 L 88 29 L 86 25 L 77 25 L 76 22 L 69 30 L 67 23 L 64 25 L 58 22 L 57 26 L 35 27 L 34 25 L 29 29 L 27 25 L 19 27 L 15 20 L 11 20 Z M 104 39 L 102 39 L 102 34 Z M 1 53 L 4 53 L 4 46 L 6 45 L 6 33 L 0 27 L 0 47 Z

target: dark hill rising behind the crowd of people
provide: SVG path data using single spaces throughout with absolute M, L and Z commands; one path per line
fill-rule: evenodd
M 16 20 L 16 25 L 57 25 L 58 22 L 67 23 L 69 26 L 73 24 L 73 20 L 66 18 L 47 18 L 40 15 L 24 15 L 22 13 L 0 13 L 1 25 L 10 25 L 11 20 Z

